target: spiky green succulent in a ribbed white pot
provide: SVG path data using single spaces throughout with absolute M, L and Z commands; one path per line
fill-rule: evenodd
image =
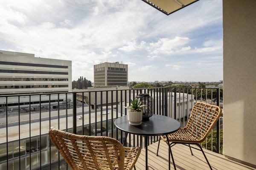
M 140 125 L 142 121 L 142 107 L 140 99 L 131 99 L 131 105 L 128 108 L 128 121 L 130 125 Z

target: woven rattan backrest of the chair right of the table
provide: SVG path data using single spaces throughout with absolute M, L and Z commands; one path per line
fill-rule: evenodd
M 194 139 L 197 139 L 197 143 L 201 143 L 220 118 L 221 112 L 218 106 L 197 102 L 192 108 L 189 121 L 184 129 L 189 131 Z

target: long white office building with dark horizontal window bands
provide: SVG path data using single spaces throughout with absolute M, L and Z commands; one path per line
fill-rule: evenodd
M 72 91 L 72 63 L 0 51 L 0 95 Z

